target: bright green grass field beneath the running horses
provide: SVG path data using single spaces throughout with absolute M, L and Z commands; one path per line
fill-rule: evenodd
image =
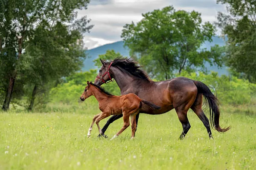
M 96 125 L 92 137 L 87 138 L 97 112 L 0 113 L 0 170 L 256 168 L 256 116 L 224 110 L 221 126 L 232 129 L 224 134 L 212 130 L 214 140 L 209 140 L 203 123 L 189 111 L 191 129 L 180 141 L 182 127 L 174 111 L 157 116 L 141 114 L 134 140 L 129 127 L 109 141 L 96 137 Z M 100 122 L 101 127 L 106 120 Z M 119 119 L 106 134 L 112 137 L 121 127 Z

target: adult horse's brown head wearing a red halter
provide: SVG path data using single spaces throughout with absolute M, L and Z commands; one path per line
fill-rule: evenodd
M 102 67 L 99 69 L 99 74 L 97 75 L 96 79 L 94 80 L 94 84 L 102 85 L 107 83 L 108 81 L 112 81 L 112 75 L 109 71 L 112 62 L 106 62 L 105 60 L 100 59 L 102 63 Z

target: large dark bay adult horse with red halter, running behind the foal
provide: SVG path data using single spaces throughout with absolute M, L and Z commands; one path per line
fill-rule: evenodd
M 108 81 L 112 81 L 113 78 L 116 80 L 121 90 L 121 95 L 134 93 L 141 99 L 161 107 L 158 110 L 143 106 L 140 109 L 140 113 L 163 114 L 175 108 L 183 127 L 179 139 L 183 139 L 191 127 L 187 118 L 189 108 L 191 108 L 204 123 L 209 139 L 212 138 L 209 120 L 202 110 L 203 96 L 209 104 L 212 128 L 220 133 L 224 133 L 230 129 L 230 127 L 220 127 L 218 100 L 204 83 L 186 77 L 177 77 L 166 81 L 154 82 L 149 79 L 148 75 L 140 68 L 140 65 L 131 58 L 116 58 L 108 62 L 102 59 L 100 60 L 102 67 L 99 70 L 94 84 L 102 85 Z M 113 121 L 121 117 L 122 114 L 111 116 L 102 128 L 102 133 L 105 133 L 108 126 Z M 139 114 L 136 116 L 137 123 L 138 119 Z

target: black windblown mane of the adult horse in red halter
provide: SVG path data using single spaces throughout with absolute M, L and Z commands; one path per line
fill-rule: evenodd
M 117 57 L 113 60 L 111 66 L 122 68 L 135 77 L 151 82 L 151 79 L 148 77 L 148 74 L 146 74 L 146 72 L 141 69 L 141 66 L 137 62 L 133 61 L 131 58 Z

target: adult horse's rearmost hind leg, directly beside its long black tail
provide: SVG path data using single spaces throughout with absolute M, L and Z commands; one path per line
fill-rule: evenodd
M 202 110 L 202 101 L 203 101 L 203 96 L 198 95 L 191 109 L 195 112 L 195 114 L 199 117 L 199 119 L 204 123 L 204 126 L 206 127 L 207 133 L 209 135 L 209 139 L 213 139 L 211 128 L 209 125 L 209 119 L 207 118 L 207 116 L 204 114 L 204 111 Z

